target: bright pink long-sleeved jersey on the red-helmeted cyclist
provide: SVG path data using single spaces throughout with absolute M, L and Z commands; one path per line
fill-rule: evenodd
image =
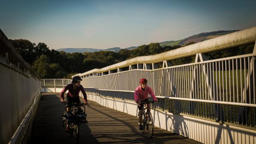
M 151 95 L 154 101 L 157 101 L 157 98 L 154 94 L 154 91 L 151 89 L 151 87 L 146 86 L 144 91 L 142 90 L 142 86 L 137 87 L 134 93 L 135 102 L 137 102 L 137 100 L 142 101 L 142 100 L 148 99 L 148 94 Z

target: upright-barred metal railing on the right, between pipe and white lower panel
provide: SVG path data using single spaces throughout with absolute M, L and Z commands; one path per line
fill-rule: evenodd
M 256 127 L 255 56 L 90 76 L 82 85 L 87 92 L 133 101 L 139 79 L 147 78 L 161 98 L 155 108 Z

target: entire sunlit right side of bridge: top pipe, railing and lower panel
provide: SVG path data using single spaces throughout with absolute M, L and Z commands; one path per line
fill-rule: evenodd
M 124 108 L 126 100 L 133 101 L 133 91 L 139 85 L 139 79 L 147 78 L 148 85 L 160 98 L 154 108 L 162 111 L 154 110 L 153 113 L 156 119 L 161 119 L 155 121 L 161 128 L 171 130 L 174 125 L 175 129 L 181 130 L 185 126 L 187 133 L 184 130 L 174 132 L 207 144 L 253 144 L 256 143 L 256 48 L 252 54 L 217 60 L 208 60 L 204 54 L 255 44 L 255 41 L 256 27 L 252 27 L 78 75 L 83 78 L 81 84 L 87 93 L 91 93 L 89 99 L 98 97 L 104 102 L 97 102 L 111 108 L 117 105 L 113 103 L 117 101 L 115 99 L 121 99 L 123 104 L 118 104 L 117 109 Z M 195 63 L 172 66 L 169 61 L 193 55 L 196 56 Z M 163 68 L 156 69 L 156 63 L 163 63 Z M 129 67 L 129 70 L 122 72 L 123 67 Z M 127 113 L 136 109 L 133 103 Z M 133 115 L 136 116 L 137 111 Z M 210 132 L 205 135 L 207 131 Z

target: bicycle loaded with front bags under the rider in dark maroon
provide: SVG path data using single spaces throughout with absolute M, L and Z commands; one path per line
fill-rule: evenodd
M 87 114 L 85 114 L 84 103 L 76 104 L 72 102 L 65 103 L 65 105 L 71 105 L 71 110 L 65 111 L 62 114 L 62 128 L 64 129 L 64 126 L 67 126 L 66 132 L 70 134 L 70 137 L 73 137 L 74 144 L 78 144 L 80 137 L 79 126 L 81 123 L 88 123 L 86 120 Z M 82 107 L 84 110 L 79 112 L 78 107 Z

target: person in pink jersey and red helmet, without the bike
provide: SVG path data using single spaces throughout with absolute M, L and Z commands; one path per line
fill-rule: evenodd
M 151 87 L 148 87 L 148 80 L 146 78 L 142 78 L 139 80 L 139 87 L 136 88 L 135 93 L 134 93 L 134 99 L 135 102 L 138 105 L 139 108 L 139 129 L 142 130 L 142 115 L 143 115 L 143 110 L 142 110 L 142 105 L 139 104 L 140 102 L 146 102 L 148 101 L 148 94 L 151 95 L 151 98 L 155 101 L 158 102 L 154 91 L 151 89 Z M 151 105 L 147 105 L 148 109 L 147 111 L 150 111 Z

